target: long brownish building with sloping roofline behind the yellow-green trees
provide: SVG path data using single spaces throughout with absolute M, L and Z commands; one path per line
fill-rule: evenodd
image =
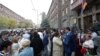
M 8 19 L 15 19 L 17 21 L 17 27 L 19 27 L 19 25 L 22 27 L 25 23 L 29 23 L 29 27 L 35 27 L 35 24 L 31 20 L 25 19 L 24 17 L 18 15 L 17 13 L 2 4 L 0 4 L 0 16 L 6 17 Z

